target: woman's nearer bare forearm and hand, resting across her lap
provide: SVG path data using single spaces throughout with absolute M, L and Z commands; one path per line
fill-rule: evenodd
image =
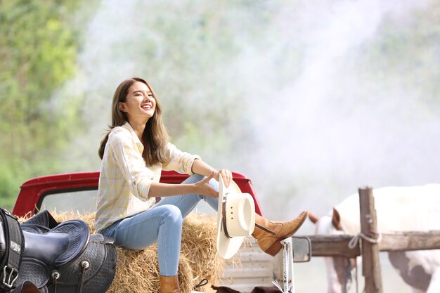
M 166 197 L 173 195 L 182 195 L 188 193 L 197 193 L 209 197 L 219 197 L 219 193 L 209 185 L 209 180 L 214 178 L 214 172 L 204 178 L 202 181 L 193 184 L 169 184 L 153 182 L 150 185 L 148 197 Z

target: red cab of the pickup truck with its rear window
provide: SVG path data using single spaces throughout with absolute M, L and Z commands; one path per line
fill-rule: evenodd
M 175 171 L 162 171 L 160 181 L 163 183 L 181 183 L 186 178 L 188 178 L 186 174 L 179 174 Z M 42 209 L 79 211 L 81 214 L 95 211 L 98 180 L 98 171 L 33 178 L 21 185 L 13 214 L 25 216 Z M 233 180 L 243 193 L 252 195 L 255 202 L 255 211 L 261 214 L 259 202 L 250 179 L 233 172 Z

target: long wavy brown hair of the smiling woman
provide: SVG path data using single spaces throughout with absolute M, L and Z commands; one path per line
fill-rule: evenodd
M 168 144 L 168 133 L 165 129 L 164 124 L 162 124 L 162 107 L 160 106 L 159 100 L 157 100 L 156 94 L 153 88 L 145 80 L 139 77 L 132 77 L 131 79 L 126 79 L 121 82 L 113 95 L 112 101 L 112 124 L 108 127 L 110 128 L 108 133 L 105 134 L 101 145 L 99 146 L 98 155 L 101 159 L 104 156 L 105 145 L 108 141 L 108 135 L 110 131 L 117 126 L 122 126 L 125 122 L 128 122 L 127 114 L 119 109 L 119 102 L 125 102 L 127 100 L 127 94 L 129 93 L 129 88 L 135 82 L 142 82 L 150 89 L 153 93 L 153 97 L 156 100 L 156 110 L 150 119 L 148 119 L 147 124 L 145 124 L 145 129 L 142 134 L 142 144 L 143 153 L 142 157 L 148 166 L 153 164 L 166 164 L 167 163 L 167 144 Z

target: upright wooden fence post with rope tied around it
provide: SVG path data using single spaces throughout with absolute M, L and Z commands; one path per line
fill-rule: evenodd
M 377 219 L 370 187 L 359 188 L 359 205 L 361 211 L 361 233 L 370 239 L 377 240 Z M 379 261 L 379 245 L 374 241 L 361 238 L 362 275 L 365 278 L 365 293 L 382 293 L 382 275 Z

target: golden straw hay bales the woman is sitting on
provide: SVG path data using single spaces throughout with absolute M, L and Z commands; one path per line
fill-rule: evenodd
M 95 214 L 56 213 L 58 222 L 83 219 L 89 224 L 91 233 Z M 181 258 L 179 260 L 179 283 L 181 292 L 190 292 L 202 279 L 208 285 L 199 287 L 201 292 L 214 292 L 211 285 L 219 285 L 224 260 L 216 253 L 216 217 L 189 214 L 183 221 Z M 159 263 L 157 245 L 141 252 L 117 247 L 117 271 L 108 293 L 159 292 Z

